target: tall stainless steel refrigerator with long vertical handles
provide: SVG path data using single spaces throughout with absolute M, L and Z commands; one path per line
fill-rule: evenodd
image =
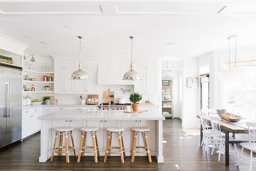
M 22 67 L 0 62 L 0 148 L 21 140 Z

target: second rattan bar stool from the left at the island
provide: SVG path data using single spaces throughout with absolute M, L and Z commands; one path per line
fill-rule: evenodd
M 81 138 L 77 162 L 80 162 L 81 155 L 83 157 L 84 153 L 94 153 L 94 161 L 95 163 L 97 163 L 98 162 L 97 152 L 98 152 L 98 156 L 100 157 L 100 151 L 99 151 L 99 145 L 98 145 L 98 139 L 97 139 L 97 130 L 99 130 L 99 128 L 88 126 L 88 127 L 83 127 L 80 130 L 82 131 L 82 138 Z M 87 132 L 92 133 L 93 146 L 85 146 Z M 93 148 L 93 151 L 85 151 L 85 149 L 88 149 L 88 148 Z

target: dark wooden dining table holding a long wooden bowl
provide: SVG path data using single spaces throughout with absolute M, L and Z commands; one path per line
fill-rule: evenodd
M 200 116 L 197 115 L 197 118 L 200 119 Z M 207 122 L 211 125 L 210 116 L 206 117 Z M 202 133 L 202 124 L 200 124 L 200 145 L 203 139 Z M 242 143 L 248 142 L 248 140 L 229 140 L 229 133 L 232 133 L 232 136 L 235 137 L 235 134 L 246 134 L 248 133 L 248 126 L 246 126 L 246 119 L 242 119 L 238 122 L 230 122 L 221 118 L 220 121 L 221 132 L 225 133 L 225 163 L 229 166 L 229 144 L 230 143 Z

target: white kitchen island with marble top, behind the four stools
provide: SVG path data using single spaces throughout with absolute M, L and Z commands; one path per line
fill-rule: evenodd
M 55 128 L 59 126 L 71 126 L 74 128 L 73 136 L 76 148 L 76 154 L 78 154 L 81 131 L 80 128 L 84 126 L 98 127 L 97 137 L 100 148 L 100 155 L 105 155 L 106 143 L 107 143 L 107 131 L 108 127 L 122 127 L 123 138 L 125 143 L 126 155 L 131 155 L 131 146 L 133 140 L 134 126 L 146 126 L 150 128 L 148 138 L 151 150 L 151 155 L 156 156 L 157 162 L 164 162 L 163 158 L 163 117 L 161 114 L 155 111 L 148 111 L 142 113 L 125 113 L 123 111 L 87 111 L 87 110 L 61 110 L 52 112 L 38 117 L 41 119 L 41 154 L 39 162 L 47 161 L 52 154 L 52 146 L 55 137 Z M 141 137 L 141 138 L 140 138 Z M 87 135 L 88 145 L 92 143 L 90 133 Z M 59 140 L 58 140 L 59 141 Z M 57 141 L 57 142 L 58 142 Z M 141 146 L 144 145 L 144 138 L 139 136 L 138 143 Z M 58 143 L 57 143 L 58 144 Z M 112 146 L 116 146 L 118 140 L 116 137 L 112 138 Z M 74 155 L 72 152 L 70 155 Z M 87 154 L 93 155 L 93 154 Z M 118 155 L 118 154 L 117 154 Z M 147 154 L 136 154 L 147 155 Z M 129 160 L 130 161 L 130 160 Z M 136 161 L 136 157 L 135 157 Z

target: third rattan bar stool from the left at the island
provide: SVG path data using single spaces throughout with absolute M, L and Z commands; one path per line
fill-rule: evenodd
M 107 147 L 106 147 L 106 153 L 105 153 L 105 158 L 104 162 L 107 161 L 107 157 L 110 156 L 110 154 L 119 154 L 121 156 L 121 162 L 124 163 L 125 159 L 125 146 L 124 146 L 124 141 L 123 141 L 123 130 L 124 128 L 119 128 L 119 127 L 109 127 L 107 128 Z M 119 147 L 111 147 L 111 140 L 112 140 L 112 133 L 117 133 L 118 135 L 118 142 L 119 142 Z M 119 149 L 118 152 L 112 152 L 111 149 Z

